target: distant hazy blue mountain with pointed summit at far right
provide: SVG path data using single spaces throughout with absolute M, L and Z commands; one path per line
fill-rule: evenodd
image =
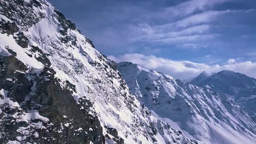
M 230 95 L 239 104 L 256 112 L 256 79 L 254 78 L 238 72 L 223 70 L 214 75 L 202 72 L 190 83 Z

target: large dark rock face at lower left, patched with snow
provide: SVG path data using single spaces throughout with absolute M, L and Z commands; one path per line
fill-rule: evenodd
M 72 86 L 66 85 L 62 88 L 59 80 L 54 77 L 53 69 L 44 67 L 44 69 L 32 74 L 33 70 L 28 73 L 26 65 L 16 59 L 14 56 L 3 57 L 0 63 L 0 87 L 8 91 L 7 97 L 12 98 L 12 101 L 17 101 L 21 108 L 11 108 L 10 105 L 1 105 L 0 118 L 0 132 L 3 134 L 0 142 L 6 143 L 8 140 L 15 140 L 16 137 L 24 137 L 24 143 L 37 142 L 43 143 L 75 143 L 75 144 L 89 144 L 92 141 L 94 144 L 104 144 L 105 136 L 102 134 L 102 127 L 98 121 L 97 116 L 89 114 L 92 103 L 86 99 L 79 99 L 79 105 L 72 97 Z M 16 72 L 20 71 L 20 72 Z M 29 81 L 26 77 L 34 76 L 33 80 Z M 16 79 L 15 83 L 7 81 L 7 78 Z M 69 83 L 69 82 L 67 82 Z M 36 84 L 36 87 L 35 87 Z M 33 88 L 33 85 L 35 88 Z M 72 88 L 70 88 L 72 87 Z M 4 99 L 3 95 L 0 95 Z M 25 99 L 26 98 L 26 99 Z M 81 109 L 83 107 L 83 109 Z M 49 118 L 51 123 L 35 119 L 30 122 L 19 121 L 19 118 L 13 115 L 26 115 L 28 111 L 39 111 L 43 117 Z M 96 114 L 95 114 L 96 115 Z M 42 123 L 41 128 L 30 128 L 33 123 Z M 65 126 L 66 124 L 66 126 Z M 67 125 L 68 124 L 68 125 Z M 35 137 L 30 134 L 23 134 L 19 132 L 19 128 L 26 128 L 26 130 L 34 131 L 38 134 Z M 109 131 L 113 134 L 116 140 L 118 139 L 115 129 Z M 41 139 L 45 137 L 46 139 Z

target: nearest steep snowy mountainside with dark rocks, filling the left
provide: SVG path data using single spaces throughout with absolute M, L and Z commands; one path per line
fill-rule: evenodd
M 198 143 L 151 115 L 46 0 L 0 0 L 0 68 L 1 144 Z

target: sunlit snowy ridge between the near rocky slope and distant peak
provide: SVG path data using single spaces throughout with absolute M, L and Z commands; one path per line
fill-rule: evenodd
M 253 144 L 252 115 L 228 95 L 181 82 L 130 62 L 118 63 L 130 91 L 158 120 L 205 144 Z M 202 75 L 207 75 L 203 73 Z

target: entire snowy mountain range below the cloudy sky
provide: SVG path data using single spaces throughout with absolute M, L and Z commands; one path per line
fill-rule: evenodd
M 0 0 L 1 144 L 253 144 L 255 95 L 243 74 L 116 64 L 46 0 Z

